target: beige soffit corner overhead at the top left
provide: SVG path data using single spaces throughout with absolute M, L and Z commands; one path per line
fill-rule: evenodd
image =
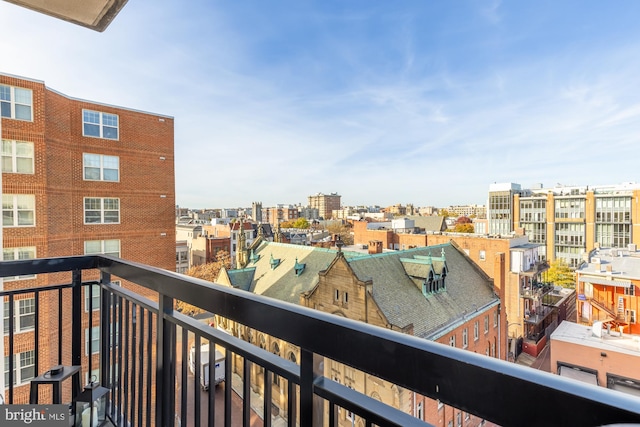
M 104 31 L 127 0 L 5 0 L 96 31 Z

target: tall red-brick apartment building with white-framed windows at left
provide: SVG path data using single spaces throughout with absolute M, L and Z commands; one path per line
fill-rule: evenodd
M 109 254 L 176 268 L 172 117 L 72 98 L 7 74 L 0 74 L 0 112 L 4 260 Z M 4 289 L 68 282 L 64 274 L 14 277 Z M 97 295 L 86 295 L 87 310 L 97 310 Z M 12 303 L 14 333 L 25 338 L 18 342 L 33 342 L 26 339 L 35 327 L 33 296 Z M 58 304 L 38 303 L 45 330 Z M 9 305 L 5 299 L 5 334 Z M 98 329 L 86 324 L 85 332 L 86 352 Z M 4 347 L 5 378 L 13 358 L 14 401 L 26 402 L 29 380 L 58 364 L 54 347 L 39 346 L 38 366 L 33 348 L 18 345 L 9 355 Z M 85 380 L 95 374 L 83 372 Z

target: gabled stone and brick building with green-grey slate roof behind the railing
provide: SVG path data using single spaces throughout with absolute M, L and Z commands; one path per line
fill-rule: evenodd
M 257 239 L 244 268 L 222 269 L 216 282 L 490 357 L 500 353 L 500 300 L 488 276 L 450 243 L 369 255 Z M 300 350 L 281 339 L 227 319 L 216 324 L 281 357 L 300 360 Z M 233 369 L 243 372 L 242 358 L 234 359 Z M 324 363 L 324 376 L 433 425 L 463 419 L 466 426 L 482 425 L 460 409 L 334 361 Z M 264 392 L 260 367 L 251 367 L 251 382 L 254 391 Z M 276 378 L 272 387 L 278 413 L 287 414 L 286 382 Z M 361 425 L 361 420 L 341 410 L 335 425 Z

